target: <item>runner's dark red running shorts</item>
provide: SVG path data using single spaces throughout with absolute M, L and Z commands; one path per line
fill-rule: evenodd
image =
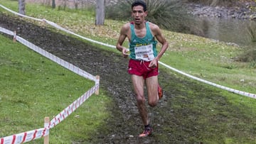
M 155 68 L 149 68 L 149 63 L 144 60 L 129 60 L 128 73 L 142 76 L 144 79 L 159 74 L 158 65 Z

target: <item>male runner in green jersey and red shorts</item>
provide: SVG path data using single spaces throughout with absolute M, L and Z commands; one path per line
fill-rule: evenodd
M 156 106 L 162 96 L 158 82 L 158 61 L 169 46 L 159 26 L 145 21 L 147 14 L 146 3 L 142 0 L 134 1 L 132 3 L 133 21 L 122 26 L 117 41 L 117 50 L 121 51 L 124 57 L 127 57 L 129 55 L 127 52 L 130 51 L 128 73 L 132 75 L 137 107 L 144 124 L 144 131 L 139 137 L 150 135 L 153 131 L 149 125 L 144 84 L 146 84 L 149 106 Z M 122 46 L 126 38 L 129 40 L 129 50 Z M 157 41 L 155 38 L 161 43 L 159 53 L 156 51 Z

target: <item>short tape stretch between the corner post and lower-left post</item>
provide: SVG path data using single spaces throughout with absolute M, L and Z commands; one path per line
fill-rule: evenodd
M 49 123 L 48 128 L 53 128 L 54 126 L 57 126 L 58 123 L 63 121 L 65 118 L 67 118 L 73 111 L 78 109 L 79 106 L 82 105 L 92 94 L 95 93 L 96 89 L 99 88 L 99 85 L 96 84 L 94 87 L 89 89 L 85 94 L 82 94 L 77 100 L 75 100 L 72 104 L 70 104 L 67 108 L 65 108 L 63 111 L 61 111 L 57 116 L 55 116 Z

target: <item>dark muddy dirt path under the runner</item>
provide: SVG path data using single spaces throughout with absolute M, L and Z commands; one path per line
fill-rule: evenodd
M 116 53 L 100 50 L 92 45 L 60 33 L 54 33 L 42 26 L 22 21 L 16 17 L 9 17 L 0 13 L 0 26 L 11 31 L 17 31 L 21 37 L 31 43 L 48 50 L 73 63 L 86 72 L 100 75 L 100 89 L 106 89 L 114 99 L 114 106 L 108 109 L 112 116 L 106 120 L 107 128 L 99 129 L 93 135 L 91 143 L 191 143 L 188 139 L 196 135 L 196 123 L 190 122 L 183 126 L 180 118 L 193 116 L 195 111 L 186 108 L 190 103 L 183 101 L 182 111 L 172 109 L 172 99 L 178 95 L 187 96 L 186 89 L 206 94 L 207 89 L 202 89 L 200 84 L 177 78 L 175 74 L 167 74 L 161 67 L 159 82 L 164 88 L 164 99 L 154 109 L 149 109 L 154 135 L 149 138 L 137 138 L 142 132 L 142 122 L 137 111 L 131 81 L 127 74 L 127 59 Z M 216 95 L 215 95 L 216 96 Z M 210 97 L 210 95 L 209 95 Z M 214 96 L 212 96 L 214 97 Z M 83 142 L 78 142 L 83 143 Z

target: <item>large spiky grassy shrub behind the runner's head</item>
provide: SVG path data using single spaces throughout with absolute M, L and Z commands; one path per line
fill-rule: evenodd
M 107 6 L 106 17 L 129 21 L 131 20 L 131 5 L 134 0 L 118 1 L 114 6 Z M 147 0 L 149 14 L 147 20 L 156 23 L 169 31 L 188 31 L 186 23 L 189 16 L 183 7 L 183 0 Z

